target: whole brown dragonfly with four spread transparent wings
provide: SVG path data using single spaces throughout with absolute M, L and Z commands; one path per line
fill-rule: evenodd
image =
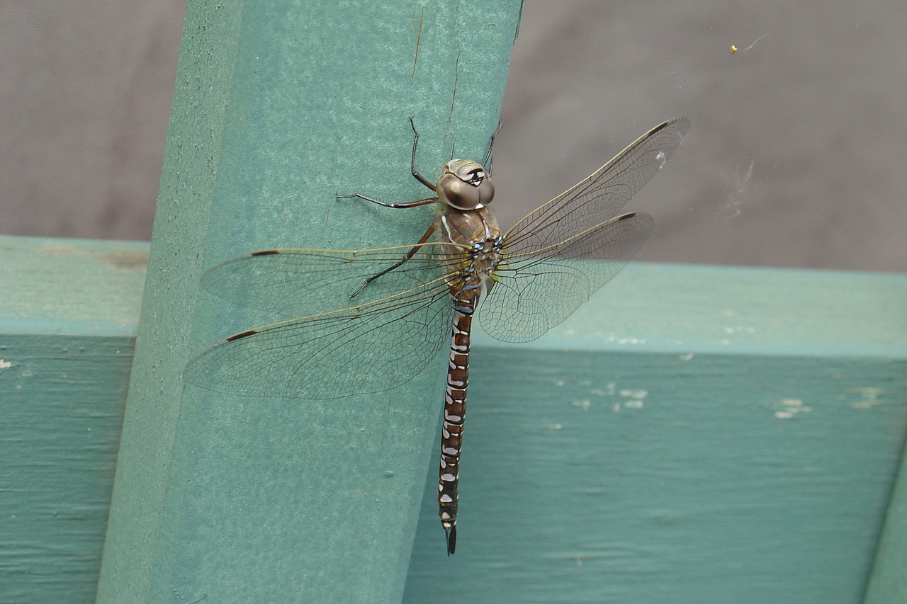
M 202 277 L 210 292 L 290 318 L 216 342 L 183 377 L 232 395 L 344 398 L 404 384 L 449 342 L 438 476 L 449 556 L 456 549 L 473 317 L 490 336 L 529 342 L 614 278 L 654 225 L 644 212 L 618 212 L 677 150 L 689 121 L 659 124 L 503 232 L 488 209 L 491 145 L 482 163 L 448 161 L 432 182 L 415 168 L 419 134 L 410 122 L 410 171 L 433 194 L 396 203 L 360 193 L 338 198 L 396 209 L 434 204 L 436 218 L 422 239 L 366 250 L 263 249 L 210 268 Z M 325 302 L 304 307 L 300 291 L 326 292 Z M 337 370 L 310 379 L 317 366 Z

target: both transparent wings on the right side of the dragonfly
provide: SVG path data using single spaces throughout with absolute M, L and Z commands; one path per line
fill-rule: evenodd
M 614 215 L 665 165 L 688 131 L 687 118 L 656 126 L 508 230 L 497 283 L 480 310 L 483 329 L 505 342 L 529 342 L 614 278 L 653 227 L 648 214 Z

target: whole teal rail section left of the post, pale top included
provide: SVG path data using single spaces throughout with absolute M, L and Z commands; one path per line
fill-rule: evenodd
M 147 257 L 0 237 L 0 601 L 94 600 Z

